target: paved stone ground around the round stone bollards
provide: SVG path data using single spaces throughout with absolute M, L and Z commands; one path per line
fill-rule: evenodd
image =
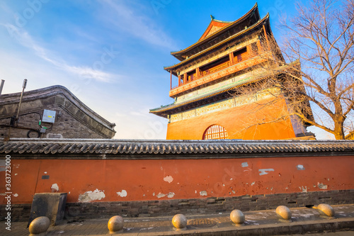
M 316 232 L 315 235 L 348 236 L 354 235 L 354 204 L 333 206 L 334 218 L 323 218 L 317 210 L 291 208 L 292 220 L 279 220 L 275 210 L 245 212 L 246 223 L 236 226 L 229 219 L 229 213 L 218 215 L 186 215 L 186 230 L 174 230 L 170 217 L 124 218 L 124 230 L 120 235 L 302 235 Z M 62 225 L 50 227 L 47 235 L 108 235 L 109 219 L 67 221 Z M 11 231 L 0 222 L 0 235 L 29 235 L 26 222 L 11 224 Z M 339 232 L 341 230 L 347 230 Z M 348 231 L 352 230 L 352 231 Z M 338 232 L 333 232 L 338 231 Z M 323 232 L 323 233 L 319 233 Z

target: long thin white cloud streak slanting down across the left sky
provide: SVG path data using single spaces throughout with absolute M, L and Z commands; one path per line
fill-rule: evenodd
M 18 41 L 18 43 L 20 43 L 24 47 L 29 48 L 30 50 L 33 50 L 35 52 L 35 55 L 42 58 L 43 60 L 46 60 L 47 62 L 50 62 L 51 64 L 55 65 L 59 69 L 62 69 L 72 74 L 79 75 L 84 78 L 95 79 L 98 82 L 111 82 L 113 78 L 120 77 L 116 74 L 110 74 L 107 72 L 103 72 L 100 69 L 95 69 L 95 63 L 104 64 L 103 62 L 100 61 L 93 62 L 92 67 L 68 65 L 67 62 L 65 62 L 64 60 L 52 57 L 50 53 L 48 53 L 47 50 L 45 50 L 45 48 L 40 47 L 40 45 L 38 45 L 38 43 L 36 43 L 35 40 L 33 40 L 33 38 L 28 34 L 28 32 L 23 30 L 22 28 L 13 26 L 10 23 L 1 24 L 1 25 L 6 27 L 11 37 L 15 38 Z

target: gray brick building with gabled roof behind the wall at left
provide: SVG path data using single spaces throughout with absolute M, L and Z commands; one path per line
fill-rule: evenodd
M 115 123 L 92 111 L 64 86 L 0 95 L 0 137 L 112 138 Z M 10 130 L 10 132 L 9 132 Z

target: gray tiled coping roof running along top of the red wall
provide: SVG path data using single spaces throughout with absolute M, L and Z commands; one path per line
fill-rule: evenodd
M 354 155 L 353 140 L 0 140 L 3 154 L 294 154 Z M 339 152 L 339 153 L 338 153 Z M 4 157 L 4 156 L 3 156 Z M 2 158 L 2 157 L 1 157 Z

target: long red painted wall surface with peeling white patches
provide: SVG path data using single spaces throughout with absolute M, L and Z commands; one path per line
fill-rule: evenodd
M 30 203 L 34 193 L 55 191 L 56 185 L 59 192 L 68 193 L 68 202 L 78 202 L 79 198 L 147 201 L 354 189 L 353 166 L 353 156 L 12 159 L 11 203 Z M 0 178 L 4 193 L 4 172 Z M 4 194 L 0 203 L 5 203 Z

